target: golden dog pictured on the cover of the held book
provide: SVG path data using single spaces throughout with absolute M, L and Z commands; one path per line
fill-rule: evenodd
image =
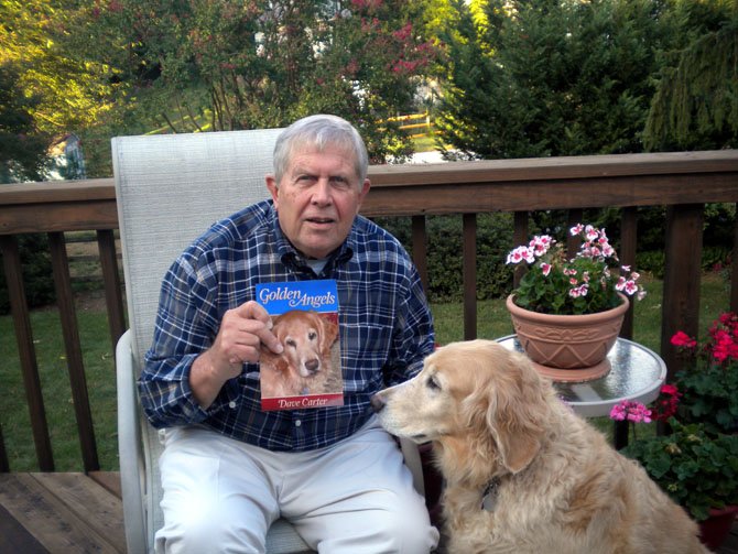
M 338 325 L 316 312 L 303 309 L 285 312 L 273 317 L 272 323 L 272 333 L 284 350 L 280 355 L 262 350 L 259 361 L 262 397 L 340 392 L 341 388 L 333 390 L 337 376 L 332 360 Z

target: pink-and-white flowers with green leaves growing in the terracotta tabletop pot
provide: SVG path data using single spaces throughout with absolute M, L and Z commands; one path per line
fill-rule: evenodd
M 569 232 L 582 239 L 572 259 L 549 235 L 535 236 L 508 254 L 509 264 L 532 265 L 513 291 L 518 306 L 554 315 L 594 314 L 618 306 L 618 293 L 643 297 L 642 286 L 636 284 L 640 275 L 625 265 L 616 270 L 618 257 L 605 229 L 578 224 Z

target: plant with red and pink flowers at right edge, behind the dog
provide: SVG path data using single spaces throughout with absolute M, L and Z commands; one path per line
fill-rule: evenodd
M 650 410 L 623 401 L 610 413 L 632 424 L 633 439 L 622 453 L 699 522 L 703 542 L 713 550 L 738 513 L 737 338 L 738 317 L 729 313 L 713 323 L 702 345 L 676 333 L 672 344 L 694 363 L 675 376 L 676 384 L 661 388 Z M 637 424 L 651 420 L 668 423 L 670 433 L 637 432 Z

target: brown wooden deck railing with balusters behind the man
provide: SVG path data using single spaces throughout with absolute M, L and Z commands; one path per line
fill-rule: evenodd
M 424 217 L 457 214 L 463 219 L 465 338 L 474 338 L 477 334 L 477 214 L 513 213 L 513 236 L 518 245 L 528 239 L 530 211 L 567 209 L 569 222 L 573 222 L 580 219 L 584 208 L 621 207 L 619 253 L 623 263 L 632 263 L 638 243 L 636 208 L 665 206 L 661 354 L 670 372 L 673 372 L 679 367 L 679 360 L 669 338 L 679 329 L 691 334 L 698 330 L 703 207 L 705 203 L 713 202 L 738 203 L 738 151 L 384 165 L 372 166 L 370 178 L 372 188 L 362 213 L 368 216 L 412 216 L 413 253 L 426 283 L 427 240 Z M 53 470 L 54 464 L 17 236 L 45 232 L 50 237 L 83 463 L 85 470 L 91 471 L 99 468 L 99 463 L 80 355 L 84 345 L 79 344 L 77 332 L 64 232 L 97 231 L 110 337 L 115 344 L 124 328 L 113 238 L 117 227 L 111 178 L 0 185 L 0 248 L 36 457 L 40 469 L 44 471 Z M 738 236 L 735 230 L 734 236 Z M 736 272 L 732 273 L 730 307 L 738 309 Z M 631 336 L 632 315 L 627 319 L 622 334 Z M 110 378 L 113 379 L 113 376 Z M 0 471 L 8 470 L 0 428 Z

